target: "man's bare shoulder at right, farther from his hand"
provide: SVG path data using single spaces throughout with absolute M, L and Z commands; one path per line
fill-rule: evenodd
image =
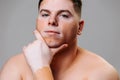
M 119 80 L 116 69 L 105 59 L 85 49 L 79 49 L 79 51 L 83 63 L 87 63 L 84 67 L 87 66 L 90 80 Z

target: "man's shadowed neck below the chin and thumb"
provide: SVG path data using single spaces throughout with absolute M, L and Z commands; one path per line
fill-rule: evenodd
M 77 41 L 68 45 L 65 50 L 57 53 L 51 63 L 53 75 L 60 74 L 67 70 L 74 62 L 77 55 Z

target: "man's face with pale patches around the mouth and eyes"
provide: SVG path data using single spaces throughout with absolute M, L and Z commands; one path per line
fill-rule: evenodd
M 56 48 L 76 40 L 79 22 L 79 16 L 70 0 L 43 0 L 37 30 L 49 47 Z

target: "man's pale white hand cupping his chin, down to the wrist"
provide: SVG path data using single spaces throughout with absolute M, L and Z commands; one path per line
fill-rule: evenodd
M 54 54 L 67 47 L 67 44 L 63 44 L 59 48 L 50 49 L 37 30 L 34 31 L 34 34 L 37 40 L 23 48 L 23 53 L 33 72 L 49 66 Z

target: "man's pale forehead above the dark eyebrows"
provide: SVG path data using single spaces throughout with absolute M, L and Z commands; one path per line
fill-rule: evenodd
M 50 11 L 69 10 L 74 12 L 71 0 L 43 0 L 40 9 L 48 9 Z

